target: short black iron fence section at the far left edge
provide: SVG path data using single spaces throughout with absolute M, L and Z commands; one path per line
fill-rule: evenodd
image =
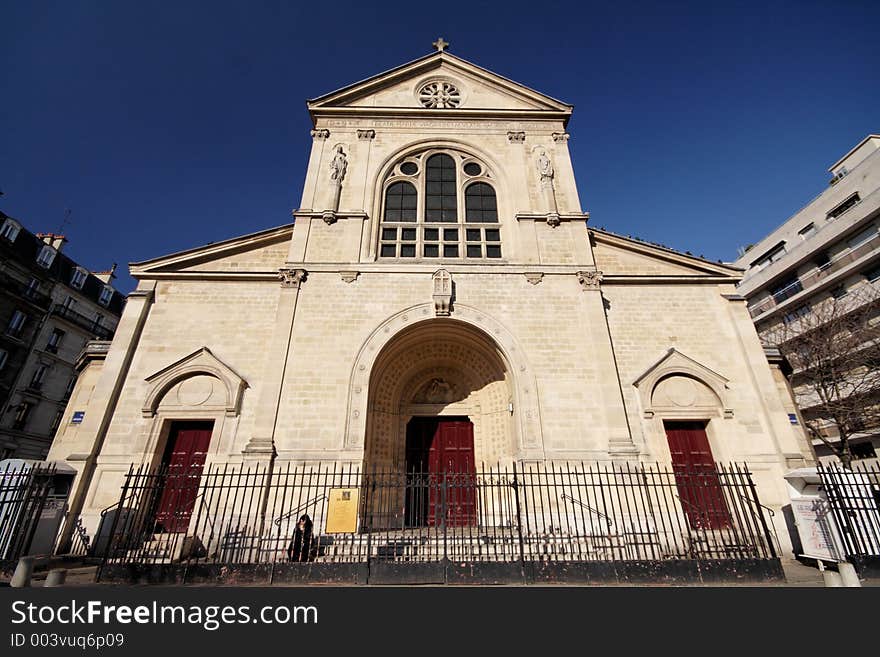
M 0 570 L 28 554 L 54 477 L 51 465 L 9 463 L 0 470 Z

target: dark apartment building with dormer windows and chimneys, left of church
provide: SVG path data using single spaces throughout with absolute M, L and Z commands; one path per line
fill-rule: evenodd
M 0 459 L 46 456 L 77 356 L 89 340 L 111 339 L 122 313 L 114 269 L 77 264 L 66 241 L 0 212 Z

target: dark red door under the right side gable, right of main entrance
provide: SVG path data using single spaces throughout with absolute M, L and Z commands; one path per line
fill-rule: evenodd
M 664 422 L 675 485 L 693 529 L 730 526 L 730 511 L 718 480 L 706 425 L 703 422 Z

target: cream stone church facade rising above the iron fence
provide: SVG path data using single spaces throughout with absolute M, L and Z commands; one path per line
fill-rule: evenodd
M 131 265 L 50 454 L 89 532 L 132 464 L 187 450 L 364 471 L 435 467 L 432 440 L 457 469 L 699 452 L 788 503 L 812 456 L 741 271 L 591 228 L 572 107 L 444 45 L 308 103 L 292 224 Z

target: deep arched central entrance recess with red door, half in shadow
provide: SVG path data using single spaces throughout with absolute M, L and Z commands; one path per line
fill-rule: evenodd
M 442 318 L 409 327 L 372 368 L 365 469 L 466 471 L 509 461 L 512 402 L 510 370 L 486 333 Z

